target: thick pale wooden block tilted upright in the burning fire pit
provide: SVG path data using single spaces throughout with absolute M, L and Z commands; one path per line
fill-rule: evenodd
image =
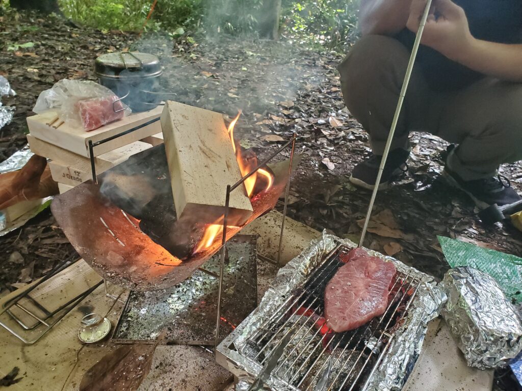
M 241 179 L 222 115 L 168 101 L 161 127 L 178 218 L 215 222 L 224 212 L 227 185 Z M 244 187 L 230 194 L 230 208 L 231 225 L 252 214 Z

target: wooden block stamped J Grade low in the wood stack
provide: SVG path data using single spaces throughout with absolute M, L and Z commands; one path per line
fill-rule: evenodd
M 145 151 L 146 149 L 151 148 L 151 145 L 141 141 L 135 141 L 131 144 L 125 145 L 118 150 L 114 151 L 116 153 L 106 153 L 101 156 L 104 156 L 106 160 L 105 163 L 112 163 L 112 166 L 120 164 L 126 161 L 130 156 Z M 109 156 L 106 156 L 109 155 Z M 99 157 L 101 157 L 99 156 Z M 85 165 L 82 165 L 85 166 Z M 105 167 L 105 164 L 104 164 Z M 106 169 L 111 167 L 96 169 L 97 174 L 103 173 Z M 88 165 L 88 169 L 80 169 L 74 165 L 68 165 L 63 163 L 60 160 L 52 160 L 49 162 L 49 168 L 51 169 L 51 176 L 56 182 L 61 182 L 66 185 L 76 186 L 85 182 L 89 179 L 92 179 L 91 167 L 90 163 Z

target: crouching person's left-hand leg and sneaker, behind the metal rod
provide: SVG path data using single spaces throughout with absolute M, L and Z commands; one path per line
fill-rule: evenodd
M 375 185 L 409 57 L 410 52 L 399 41 L 367 35 L 355 43 L 337 67 L 346 106 L 369 133 L 373 151 L 373 156 L 353 169 L 350 180 L 356 185 L 368 189 Z M 408 133 L 425 127 L 430 96 L 421 71 L 414 69 L 379 188 L 387 187 L 404 166 L 410 149 Z

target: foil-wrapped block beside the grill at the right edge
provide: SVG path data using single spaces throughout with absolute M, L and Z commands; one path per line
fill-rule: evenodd
M 493 277 L 469 266 L 449 270 L 442 310 L 468 365 L 503 366 L 522 350 L 522 325 L 513 304 Z

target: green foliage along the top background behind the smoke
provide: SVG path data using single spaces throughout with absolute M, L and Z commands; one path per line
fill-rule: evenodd
M 0 0 L 3 1 L 3 0 Z M 147 29 L 173 38 L 195 31 L 257 34 L 266 0 L 158 0 Z M 101 30 L 138 31 L 153 0 L 60 0 L 63 13 Z M 353 40 L 358 0 L 282 0 L 281 33 L 317 47 L 341 47 Z

